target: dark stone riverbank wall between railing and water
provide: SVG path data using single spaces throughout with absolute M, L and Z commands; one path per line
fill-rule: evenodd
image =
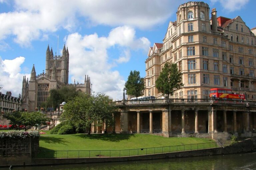
M 239 143 L 235 143 L 226 147 L 190 150 L 171 152 L 163 154 L 139 155 L 139 156 L 126 156 L 126 157 L 97 157 L 97 158 L 55 158 L 55 159 L 32 159 L 31 162 L 25 165 L 58 165 L 58 164 L 77 164 L 77 163 L 99 163 L 99 162 L 119 162 L 119 161 L 139 161 L 139 160 L 153 160 L 153 159 L 166 159 L 166 158 L 182 158 L 182 157 L 195 157 L 195 156 L 210 156 L 210 155 L 225 155 L 234 153 L 249 153 L 256 151 L 256 138 L 246 139 Z M 2 164 L 3 165 L 3 164 Z M 22 166 L 21 162 L 17 164 Z M 9 166 L 9 165 L 5 165 Z

